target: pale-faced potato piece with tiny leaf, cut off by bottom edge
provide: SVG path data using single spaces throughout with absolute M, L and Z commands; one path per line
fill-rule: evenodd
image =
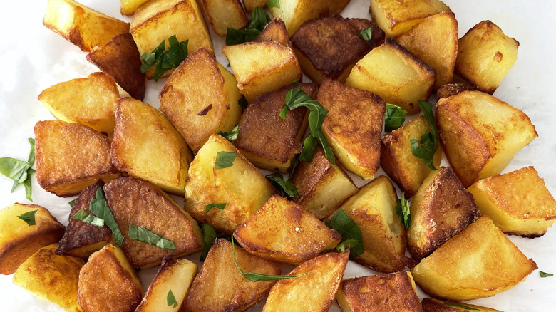
M 163 258 L 162 265 L 135 312 L 177 312 L 180 311 L 185 294 L 197 275 L 197 265 L 187 259 Z M 172 292 L 175 303 L 168 301 Z

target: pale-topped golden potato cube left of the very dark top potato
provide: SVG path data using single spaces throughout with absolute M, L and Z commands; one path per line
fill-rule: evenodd
M 262 93 L 278 90 L 302 76 L 292 49 L 274 41 L 225 46 L 222 53 L 230 61 L 237 88 L 249 103 Z

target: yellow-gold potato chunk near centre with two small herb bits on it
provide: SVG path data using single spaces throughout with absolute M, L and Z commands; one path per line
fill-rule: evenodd
M 231 167 L 215 169 L 219 152 L 233 152 Z M 220 135 L 212 135 L 201 147 L 187 172 L 183 209 L 202 223 L 219 232 L 232 234 L 246 222 L 276 189 L 232 143 Z M 207 204 L 225 203 L 224 209 L 210 209 Z

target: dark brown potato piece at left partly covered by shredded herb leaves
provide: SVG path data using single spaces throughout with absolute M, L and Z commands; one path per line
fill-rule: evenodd
M 89 204 L 91 199 L 96 199 L 96 190 L 103 187 L 103 180 L 99 180 L 95 184 L 89 185 L 76 199 L 75 204 L 71 208 L 69 214 L 68 227 L 66 232 L 60 239 L 60 245 L 56 249 L 56 254 L 65 256 L 77 256 L 88 258 L 94 251 L 98 251 L 103 246 L 112 242 L 112 231 L 108 226 L 96 227 L 92 224 L 71 219 L 74 214 L 83 209 L 91 214 Z

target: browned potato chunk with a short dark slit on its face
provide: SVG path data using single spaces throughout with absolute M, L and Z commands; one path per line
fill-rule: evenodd
M 193 52 L 160 90 L 160 111 L 194 153 L 218 131 L 230 132 L 242 113 L 237 80 L 205 48 Z

